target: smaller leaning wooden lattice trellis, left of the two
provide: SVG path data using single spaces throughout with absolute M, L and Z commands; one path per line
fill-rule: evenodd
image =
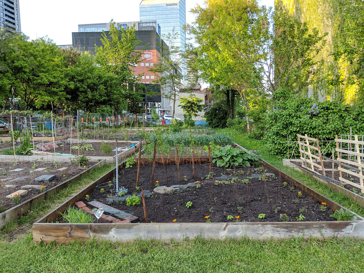
M 297 134 L 297 139 L 298 145 L 300 146 L 302 167 L 317 174 L 320 174 L 319 171 L 322 171 L 323 175 L 325 175 L 325 168 L 321 157 L 318 139 L 310 138 L 307 134 L 304 136 Z M 303 140 L 301 141 L 301 139 Z M 314 158 L 314 161 L 312 158 Z

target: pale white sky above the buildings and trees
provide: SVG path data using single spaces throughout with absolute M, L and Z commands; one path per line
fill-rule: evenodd
M 19 3 L 20 2 L 20 3 Z M 58 45 L 72 44 L 72 32 L 78 24 L 139 21 L 140 0 L 19 0 L 21 31 L 30 39 L 48 36 Z M 186 21 L 189 12 L 204 0 L 186 0 Z M 262 5 L 273 6 L 273 0 L 260 0 Z

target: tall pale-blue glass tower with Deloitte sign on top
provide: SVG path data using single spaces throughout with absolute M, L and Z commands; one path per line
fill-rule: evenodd
M 162 39 L 169 33 L 177 33 L 173 46 L 186 50 L 186 0 L 142 0 L 139 4 L 140 20 L 157 20 L 161 26 Z M 168 41 L 165 42 L 168 44 Z M 186 65 L 182 65 L 182 74 L 186 75 Z

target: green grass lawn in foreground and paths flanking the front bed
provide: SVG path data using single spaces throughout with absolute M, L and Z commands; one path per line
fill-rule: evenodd
M 269 155 L 260 141 L 246 135 L 234 134 L 234 141 L 249 150 L 261 150 L 261 157 L 291 174 L 301 182 L 320 191 L 329 198 L 364 215 L 363 209 L 351 199 L 330 191 L 303 174 L 282 166 L 280 158 Z M 107 171 L 99 170 L 101 175 Z M 92 177 L 93 178 L 93 177 Z M 91 179 L 91 178 L 90 178 Z M 96 179 L 96 178 L 95 178 Z M 51 207 L 67 199 L 88 181 L 71 186 L 43 205 L 30 218 L 45 214 Z M 0 238 L 0 272 L 364 272 L 364 242 L 353 239 L 291 240 L 261 242 L 193 241 L 170 242 L 135 241 L 111 244 L 93 240 L 66 245 L 34 244 L 31 235 L 23 235 L 9 242 L 8 235 L 15 227 L 7 226 Z M 26 221 L 24 221 L 26 222 Z M 30 233 L 30 228 L 28 232 Z

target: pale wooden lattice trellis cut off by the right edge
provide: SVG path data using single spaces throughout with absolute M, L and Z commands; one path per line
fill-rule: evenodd
M 336 152 L 337 152 L 337 161 L 344 163 L 345 165 L 354 165 L 356 167 L 351 167 L 350 170 L 348 169 L 344 169 L 341 167 L 341 165 L 339 164 L 339 167 L 337 169 L 339 169 L 339 179 L 341 182 L 347 183 L 349 185 L 358 187 L 359 189 L 361 189 L 361 192 L 364 193 L 364 185 L 363 185 L 363 179 L 364 179 L 364 175 L 363 175 L 363 168 L 364 168 L 364 164 L 362 162 L 364 162 L 364 153 L 361 152 L 360 153 L 360 147 L 359 145 L 361 145 L 363 148 L 364 145 L 364 141 L 359 141 L 358 140 L 358 136 L 354 135 L 354 139 L 355 140 L 351 140 L 351 139 L 340 139 L 335 138 L 336 141 Z M 348 150 L 343 150 L 343 149 L 339 149 L 339 143 L 346 143 L 349 147 L 349 145 L 353 145 L 355 146 L 355 149 L 353 149 L 353 151 L 351 149 Z M 343 159 L 342 157 L 346 157 L 347 159 Z M 354 159 L 356 159 L 356 161 L 351 161 L 351 158 L 354 157 Z M 343 178 L 343 172 L 351 175 L 353 177 L 357 177 L 359 178 L 359 183 L 360 185 L 358 185 L 357 183 L 354 183 L 352 181 L 349 181 L 345 178 Z

